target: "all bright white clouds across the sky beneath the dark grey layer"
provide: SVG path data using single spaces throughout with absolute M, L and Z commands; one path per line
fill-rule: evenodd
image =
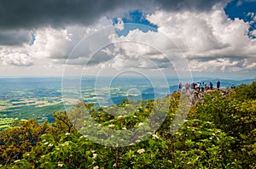
M 254 13 L 247 16 L 256 18 Z M 24 44 L 0 48 L 0 62 L 1 65 L 34 66 L 35 59 L 44 59 L 44 64 L 48 60 L 48 65 L 54 70 L 56 65 L 64 65 L 78 42 L 89 36 L 90 44 L 84 43 L 83 48 L 76 50 L 68 64 L 83 65 L 91 51 L 101 44 L 113 43 L 99 49 L 100 52 L 90 61 L 92 70 L 96 70 L 96 67 L 163 69 L 170 66 L 170 60 L 182 54 L 189 60 L 193 71 L 255 70 L 256 39 L 247 36 L 251 23 L 230 20 L 223 8 L 216 6 L 204 12 L 157 10 L 148 14 L 147 19 L 158 25 L 158 32 L 137 29 L 125 37 L 119 37 L 115 32 L 101 33 L 102 28 L 113 24 L 106 17 L 87 27 L 38 28 L 33 31 L 36 37 L 32 46 Z M 119 19 L 115 28 L 124 30 L 123 20 Z M 92 34 L 94 36 L 90 36 Z M 256 31 L 251 34 L 256 36 Z M 164 56 L 162 53 L 165 52 L 172 55 Z M 40 61 L 36 64 L 40 65 Z M 176 64 L 177 70 L 186 70 L 185 60 L 179 60 Z

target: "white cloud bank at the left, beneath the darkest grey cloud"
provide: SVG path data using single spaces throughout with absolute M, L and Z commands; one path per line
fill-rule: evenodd
M 35 35 L 32 45 L 27 42 L 22 46 L 0 48 L 1 63 L 2 65 L 32 65 L 32 59 L 49 59 L 49 62 L 55 60 L 55 63 L 58 63 L 56 60 L 62 59 L 60 63 L 63 63 L 79 41 L 88 34 L 111 24 L 111 20 L 102 17 L 96 24 L 89 27 L 70 25 L 61 29 L 38 28 L 32 31 Z M 22 33 L 24 34 L 23 31 Z M 84 48 L 84 50 L 89 49 Z M 84 51 L 77 51 L 78 54 L 82 52 L 84 53 Z

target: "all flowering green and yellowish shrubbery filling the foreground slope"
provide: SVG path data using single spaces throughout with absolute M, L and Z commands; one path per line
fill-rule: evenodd
M 94 104 L 79 103 L 68 114 L 54 112 L 55 122 L 16 121 L 13 128 L 0 133 L 3 168 L 255 168 L 256 100 L 251 90 L 256 83 L 236 87 L 223 94 L 204 95 L 202 103 L 192 106 L 187 120 L 174 133 L 180 93 L 159 100 L 123 103 L 105 110 Z M 168 112 L 157 114 L 166 104 Z M 116 111 L 116 110 L 119 111 Z M 187 107 L 183 107 L 187 109 Z M 111 114 L 109 114 L 111 112 Z M 127 115 L 127 112 L 131 114 Z M 156 111 L 159 112 L 159 111 Z M 96 121 L 84 121 L 84 115 Z M 157 118 L 165 117 L 158 130 L 150 131 Z M 148 118 L 156 119 L 148 123 Z M 96 144 L 75 128 L 85 127 L 91 134 L 111 134 L 143 124 L 137 132 L 150 132 L 148 138 L 125 147 Z M 119 135 L 118 137 L 130 137 Z M 113 141 L 108 137 L 109 142 Z

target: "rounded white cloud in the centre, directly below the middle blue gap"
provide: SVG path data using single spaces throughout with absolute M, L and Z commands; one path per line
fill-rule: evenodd
M 113 48 L 104 49 L 104 51 L 113 56 L 110 62 L 118 69 L 161 69 L 169 62 L 162 54 L 161 48 L 168 46 L 172 49 L 172 44 L 167 43 L 161 36 L 162 34 L 154 31 L 143 32 L 138 29 L 121 37 L 113 32 L 109 36 L 110 42 L 113 42 Z

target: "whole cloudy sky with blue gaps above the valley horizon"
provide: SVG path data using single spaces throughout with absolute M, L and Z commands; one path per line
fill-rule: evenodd
M 0 76 L 255 78 L 256 0 L 0 0 Z

